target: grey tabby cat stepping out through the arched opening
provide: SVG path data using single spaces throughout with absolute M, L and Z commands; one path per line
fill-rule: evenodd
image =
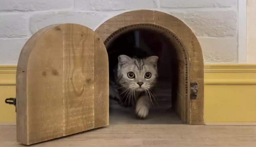
M 119 55 L 117 59 L 117 66 L 113 70 L 114 76 L 110 78 L 110 97 L 120 102 L 124 101 L 124 105 L 127 103 L 136 105 L 137 116 L 146 118 L 149 108 L 155 100 L 151 88 L 157 82 L 159 57 Z

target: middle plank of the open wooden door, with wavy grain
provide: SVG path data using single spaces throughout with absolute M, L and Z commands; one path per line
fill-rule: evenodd
M 65 135 L 94 128 L 94 32 L 63 25 Z M 86 121 L 85 121 L 86 120 Z M 78 125 L 77 125 L 78 124 Z

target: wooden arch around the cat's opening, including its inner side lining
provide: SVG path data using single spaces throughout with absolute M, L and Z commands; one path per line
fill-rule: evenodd
M 180 71 L 176 112 L 184 123 L 203 124 L 203 54 L 196 35 L 180 19 L 155 10 L 121 13 L 101 24 L 96 33 L 107 46 L 134 28 L 157 30 L 175 44 Z

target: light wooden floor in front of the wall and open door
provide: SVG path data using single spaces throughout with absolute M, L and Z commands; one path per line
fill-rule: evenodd
M 116 124 L 34 147 L 255 147 L 256 126 Z M 0 147 L 22 147 L 16 126 L 0 126 Z

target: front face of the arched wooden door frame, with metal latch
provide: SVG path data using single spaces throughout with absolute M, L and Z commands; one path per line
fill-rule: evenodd
M 120 29 L 131 25 L 138 26 L 138 24 L 152 24 L 168 29 L 169 33 L 184 48 L 185 60 L 187 61 L 187 71 L 184 72 L 187 78 L 185 122 L 187 124 L 203 124 L 203 54 L 196 35 L 185 23 L 160 11 L 133 10 L 110 18 L 95 31 L 106 43 Z

